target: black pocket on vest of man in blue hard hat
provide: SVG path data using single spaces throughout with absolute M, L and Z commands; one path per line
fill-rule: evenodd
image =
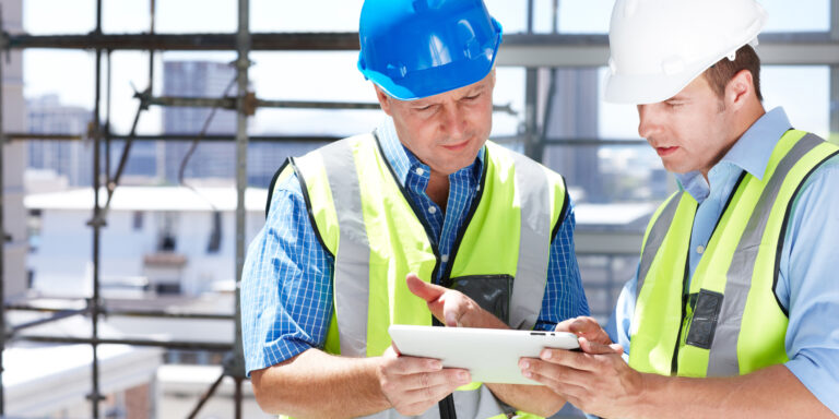
M 463 292 L 475 300 L 482 309 L 510 324 L 510 297 L 512 276 L 471 275 L 451 278 L 451 289 Z

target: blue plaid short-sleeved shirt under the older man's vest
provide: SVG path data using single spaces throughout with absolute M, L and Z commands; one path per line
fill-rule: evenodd
M 484 152 L 472 165 L 449 176 L 449 200 L 444 213 L 425 194 L 428 166 L 402 146 L 390 118 L 377 134 L 409 199 L 423 210 L 417 215 L 430 227 L 430 239 L 439 247 L 442 273 L 475 196 Z M 539 330 L 552 330 L 559 321 L 589 314 L 574 253 L 574 210 L 568 205 L 551 244 L 545 296 L 535 326 Z M 292 176 L 275 189 L 265 225 L 250 243 L 245 261 L 241 326 L 248 373 L 309 348 L 323 347 L 332 316 L 333 262 L 315 237 L 299 181 Z

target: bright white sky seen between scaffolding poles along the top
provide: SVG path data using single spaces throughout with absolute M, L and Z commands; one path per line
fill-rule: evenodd
M 31 34 L 84 34 L 95 26 L 95 0 L 23 0 L 24 29 Z M 505 33 L 527 28 L 527 0 L 486 0 L 487 8 L 504 25 Z M 769 12 L 767 29 L 826 31 L 828 0 L 764 0 Z M 560 0 L 559 28 L 567 33 L 605 33 L 613 0 Z M 252 32 L 353 32 L 362 0 L 251 0 Z M 158 33 L 232 33 L 237 25 L 236 0 L 156 0 L 155 31 Z M 535 0 L 534 28 L 551 31 L 552 0 Z M 103 0 L 103 29 L 109 34 L 147 32 L 149 0 Z M 759 50 L 758 50 L 759 51 Z M 147 86 L 147 52 L 113 53 L 111 124 L 126 133 L 137 110 L 133 89 Z M 229 62 L 234 52 L 166 52 L 156 55 L 155 93 L 163 85 L 163 60 L 196 59 Z M 347 52 L 253 52 L 250 79 L 257 95 L 267 99 L 375 101 L 369 83 L 355 68 L 357 53 Z M 91 51 L 27 50 L 24 52 L 24 95 L 58 94 L 68 105 L 93 106 L 94 59 Z M 601 71 L 605 79 L 605 71 Z M 773 68 L 764 70 L 767 108 L 783 104 L 793 123 L 819 134 L 828 127 L 828 81 L 825 67 Z M 601 91 L 602 91 L 601 84 Z M 496 104 L 523 109 L 524 72 L 499 69 Z M 631 106 L 603 104 L 600 116 L 602 137 L 637 137 L 637 115 Z M 250 123 L 252 134 L 268 132 L 352 134 L 369 130 L 380 118 L 376 111 L 262 109 Z M 152 108 L 141 118 L 140 133 L 157 133 L 161 109 Z M 496 115 L 494 134 L 512 134 L 520 117 Z

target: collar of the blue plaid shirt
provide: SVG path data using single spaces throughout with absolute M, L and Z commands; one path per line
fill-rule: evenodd
M 414 153 L 407 149 L 407 147 L 402 145 L 402 142 L 399 141 L 399 135 L 397 134 L 397 128 L 393 125 L 392 118 L 386 118 L 376 127 L 376 135 L 379 139 L 379 144 L 381 144 L 381 151 L 385 154 L 385 158 L 388 159 L 388 163 L 390 163 L 390 166 L 393 168 L 393 172 L 397 175 L 400 184 L 404 187 L 409 172 L 416 173 L 417 168 L 423 169 L 421 172 L 424 172 L 426 178 L 429 176 L 428 165 L 420 161 Z M 486 146 L 482 147 L 477 153 L 477 158 L 475 158 L 475 161 L 472 165 L 458 170 L 456 173 L 452 173 L 452 176 L 460 175 L 464 170 L 471 170 L 473 178 L 477 181 L 483 172 L 485 149 Z

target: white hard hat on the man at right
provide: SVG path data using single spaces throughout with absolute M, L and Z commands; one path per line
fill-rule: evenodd
M 666 100 L 723 57 L 757 45 L 765 23 L 755 0 L 617 0 L 605 99 Z

